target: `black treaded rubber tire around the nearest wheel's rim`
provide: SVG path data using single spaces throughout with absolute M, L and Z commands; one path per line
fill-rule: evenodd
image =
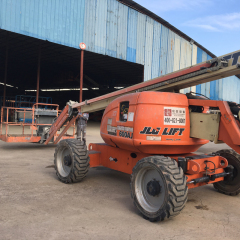
M 140 170 L 150 166 L 158 171 L 164 182 L 165 196 L 161 207 L 156 212 L 148 212 L 144 209 L 136 196 L 136 178 Z M 163 221 L 166 218 L 176 216 L 185 207 L 188 196 L 187 179 L 182 168 L 170 157 L 152 156 L 140 160 L 133 168 L 131 175 L 131 195 L 135 206 L 143 217 L 151 222 Z M 160 193 L 161 194 L 161 193 Z

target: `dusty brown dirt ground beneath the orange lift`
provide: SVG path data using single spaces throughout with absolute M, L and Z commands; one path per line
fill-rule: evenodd
M 102 142 L 99 125 L 87 140 Z M 198 152 L 227 148 L 207 144 Z M 212 185 L 189 190 L 177 217 L 144 220 L 132 203 L 129 175 L 90 169 L 72 185 L 58 181 L 55 146 L 0 142 L 0 239 L 240 239 L 240 195 L 226 196 Z

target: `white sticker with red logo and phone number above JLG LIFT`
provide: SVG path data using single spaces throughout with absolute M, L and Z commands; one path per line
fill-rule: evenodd
M 164 125 L 186 125 L 185 108 L 164 107 Z

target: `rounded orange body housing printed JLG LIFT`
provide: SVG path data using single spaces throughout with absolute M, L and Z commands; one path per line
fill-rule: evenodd
M 120 121 L 120 104 L 129 101 L 128 119 Z M 117 98 L 106 108 L 103 140 L 121 149 L 148 154 L 184 154 L 196 151 L 207 140 L 190 138 L 186 95 L 141 92 Z

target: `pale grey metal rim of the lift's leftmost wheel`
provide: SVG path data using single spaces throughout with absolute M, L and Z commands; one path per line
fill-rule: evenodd
M 57 169 L 62 177 L 67 177 L 70 174 L 72 168 L 72 163 L 68 166 L 65 165 L 65 157 L 71 158 L 70 150 L 67 147 L 61 148 L 57 153 Z

